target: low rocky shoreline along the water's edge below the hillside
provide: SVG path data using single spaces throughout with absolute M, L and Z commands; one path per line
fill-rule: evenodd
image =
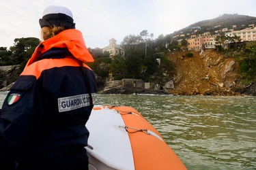
M 12 67 L 8 70 L 0 70 L 0 91 L 10 90 L 12 84 L 18 78 L 18 67 Z M 232 90 L 206 90 L 205 92 L 199 92 L 197 90 L 180 92 L 169 92 L 166 90 L 145 89 L 145 88 L 133 88 L 131 86 L 106 86 L 102 78 L 97 78 L 98 94 L 151 94 L 151 95 L 201 95 L 201 96 L 256 96 L 256 81 L 243 89 Z

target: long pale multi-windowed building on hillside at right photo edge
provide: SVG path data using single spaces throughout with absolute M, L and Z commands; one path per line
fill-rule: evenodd
M 234 37 L 237 35 L 242 39 L 242 41 L 256 41 L 256 27 L 253 29 L 243 29 L 240 31 L 231 31 L 228 33 L 225 33 L 225 36 Z

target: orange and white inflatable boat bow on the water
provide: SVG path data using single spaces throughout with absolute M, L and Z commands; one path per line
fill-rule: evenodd
M 95 105 L 86 126 L 90 170 L 186 169 L 160 133 L 133 107 Z

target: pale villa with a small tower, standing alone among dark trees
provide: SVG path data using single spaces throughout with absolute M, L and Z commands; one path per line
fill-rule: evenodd
M 109 52 L 110 57 L 113 57 L 115 55 L 121 54 L 121 56 L 125 56 L 125 51 L 124 49 L 117 45 L 117 40 L 115 40 L 114 38 L 109 40 L 109 46 L 106 46 L 105 48 L 103 48 L 102 52 Z

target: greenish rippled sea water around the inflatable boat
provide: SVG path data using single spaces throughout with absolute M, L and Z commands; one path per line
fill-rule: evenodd
M 97 95 L 96 105 L 137 109 L 187 169 L 256 169 L 255 97 Z

